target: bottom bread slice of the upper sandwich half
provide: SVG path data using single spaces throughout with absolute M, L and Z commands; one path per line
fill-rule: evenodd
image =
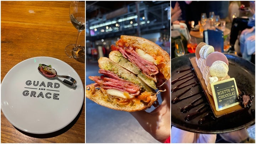
M 122 66 L 124 69 L 129 70 L 133 74 L 137 75 L 145 84 L 153 89 L 157 89 L 154 80 L 149 79 L 145 74 L 143 74 L 137 65 L 130 62 L 128 59 L 124 58 L 122 53 L 114 50 L 108 55 L 111 60 L 113 60 L 118 65 Z

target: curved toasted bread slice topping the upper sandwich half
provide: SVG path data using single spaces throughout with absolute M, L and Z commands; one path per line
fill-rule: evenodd
M 163 50 L 156 43 L 149 41 L 148 39 L 135 37 L 135 36 L 125 36 L 121 35 L 121 41 L 117 41 L 117 46 L 133 47 L 143 50 L 149 55 L 153 56 L 159 64 L 157 65 L 159 71 L 164 75 L 165 79 L 170 79 L 171 74 L 171 60 L 170 55 Z M 121 43 L 120 43 L 121 42 Z

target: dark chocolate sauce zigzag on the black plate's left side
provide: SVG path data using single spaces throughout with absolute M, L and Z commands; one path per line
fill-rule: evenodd
M 186 72 L 188 71 L 188 73 L 186 74 L 183 74 L 181 75 L 179 78 L 176 78 L 175 80 L 172 80 L 171 81 L 171 85 L 174 85 L 176 82 L 179 82 L 181 81 L 180 84 L 178 84 L 177 86 L 175 86 L 174 88 L 171 89 L 171 92 L 174 93 L 178 90 L 181 90 L 181 89 L 185 89 L 186 87 L 188 87 L 184 92 L 182 92 L 180 95 L 176 96 L 173 100 L 171 100 L 171 103 L 172 104 L 176 104 L 178 102 L 181 102 L 183 100 L 186 100 L 188 98 L 191 98 L 191 97 L 194 97 L 194 96 L 197 96 L 202 92 L 198 92 L 196 94 L 192 94 L 192 95 L 189 95 L 189 96 L 185 96 L 185 97 L 182 97 L 183 95 L 185 95 L 188 91 L 190 91 L 192 89 L 192 87 L 195 87 L 197 85 L 200 84 L 200 82 L 198 81 L 197 79 L 197 76 L 194 74 L 194 69 L 193 68 L 189 68 L 189 69 L 185 69 L 185 70 L 180 70 L 180 71 L 176 71 L 176 73 L 183 73 L 183 72 Z M 194 82 L 191 82 L 189 84 L 186 84 L 188 81 L 192 80 L 192 79 L 195 79 Z M 182 81 L 183 80 L 183 81 Z M 192 85 L 192 86 L 191 86 Z M 204 104 L 204 105 L 203 105 Z M 203 106 L 201 106 L 203 105 Z M 199 107 L 201 106 L 201 107 Z M 209 113 L 209 106 L 208 104 L 206 103 L 206 101 L 203 99 L 202 96 L 198 97 L 196 100 L 194 100 L 193 102 L 189 103 L 187 106 L 181 108 L 181 113 L 187 113 L 189 112 L 192 108 L 196 108 L 196 107 L 199 107 L 196 111 L 192 112 L 192 113 L 189 113 L 186 117 L 185 117 L 185 120 L 186 121 L 190 121 L 198 116 L 201 116 L 202 114 L 206 113 L 206 116 L 204 116 L 203 118 L 201 118 L 199 121 L 198 121 L 198 124 L 203 124 L 205 121 L 209 121 L 209 119 L 213 119 L 214 116 L 212 113 Z

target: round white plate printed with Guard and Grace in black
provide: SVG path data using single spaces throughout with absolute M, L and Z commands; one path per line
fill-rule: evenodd
M 76 87 L 63 84 L 62 78 L 45 78 L 37 70 L 40 63 L 52 65 L 59 75 L 71 76 L 77 81 Z M 78 115 L 83 101 L 84 87 L 79 75 L 55 58 L 24 60 L 1 83 L 2 112 L 13 126 L 28 133 L 46 134 L 64 128 Z

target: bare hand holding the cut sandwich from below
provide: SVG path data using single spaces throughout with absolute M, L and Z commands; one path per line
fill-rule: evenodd
M 159 142 L 164 142 L 170 137 L 170 80 L 160 87 L 162 103 L 154 111 L 148 113 L 146 111 L 131 112 L 140 125 L 150 133 Z

